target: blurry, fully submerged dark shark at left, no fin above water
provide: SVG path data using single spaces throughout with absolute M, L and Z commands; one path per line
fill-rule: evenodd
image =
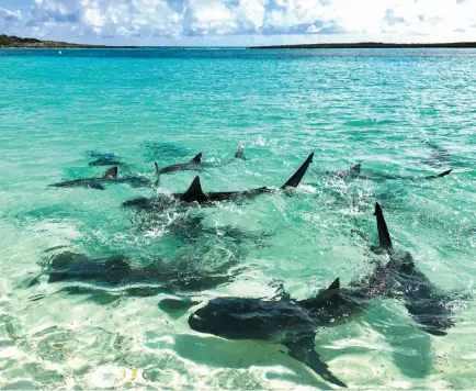
M 247 241 L 203 231 L 200 238 L 179 246 L 165 259 L 125 255 L 94 258 L 65 247 L 53 248 L 45 252 L 43 270 L 29 287 L 45 281 L 58 283 L 68 293 L 102 291 L 117 297 L 196 293 L 229 283 L 241 272 Z

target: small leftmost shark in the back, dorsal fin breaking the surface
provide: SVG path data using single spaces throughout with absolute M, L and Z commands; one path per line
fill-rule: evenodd
M 104 183 L 126 183 L 129 185 L 133 188 L 139 188 L 139 187 L 149 187 L 154 185 L 150 179 L 141 177 L 141 176 L 124 176 L 124 177 L 117 177 L 118 174 L 118 167 L 112 167 L 105 171 L 105 174 L 100 178 L 84 178 L 84 179 L 73 179 L 68 180 L 65 182 L 59 183 L 53 183 L 49 185 L 49 187 L 55 188 L 76 188 L 76 187 L 82 187 L 82 188 L 89 188 L 89 189 L 95 189 L 95 190 L 104 190 Z M 157 172 L 157 165 L 156 165 L 156 174 Z M 155 185 L 157 186 L 159 182 L 159 177 L 157 177 L 157 180 Z

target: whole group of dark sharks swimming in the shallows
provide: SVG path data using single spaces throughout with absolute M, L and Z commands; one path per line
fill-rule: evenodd
M 160 167 L 158 163 L 155 163 L 154 179 L 149 179 L 146 176 L 128 175 L 125 163 L 118 160 L 113 154 L 104 154 L 97 156 L 97 159 L 90 163 L 93 167 L 107 167 L 102 176 L 72 179 L 49 186 L 58 190 L 71 187 L 105 190 L 114 183 L 126 183 L 134 188 L 158 188 L 163 186 L 161 179 L 166 175 L 179 171 L 201 171 L 204 167 L 202 159 L 203 156 L 200 153 L 188 161 L 166 167 Z M 239 159 L 245 159 L 241 146 L 228 163 Z M 135 198 L 124 201 L 122 208 L 134 213 L 154 215 L 167 210 L 171 204 L 180 204 L 182 208 L 199 204 L 213 208 L 222 202 L 246 201 L 257 197 L 267 197 L 267 194 L 282 193 L 292 197 L 314 159 L 315 154 L 311 153 L 304 158 L 302 165 L 296 167 L 297 170 L 287 180 L 283 178 L 281 183 L 271 183 L 274 185 L 271 187 L 212 191 L 208 190 L 206 183 L 202 183 L 200 176 L 196 176 L 183 192 L 167 197 L 156 193 L 152 198 Z M 125 174 L 120 172 L 120 169 Z M 441 174 L 407 179 L 444 180 L 443 178 L 451 172 L 452 169 L 446 169 Z M 365 172 L 361 164 L 348 170 L 324 174 L 342 180 L 366 178 L 377 181 L 398 178 L 398 176 L 388 174 Z M 107 290 L 124 287 L 132 295 L 171 292 L 177 299 L 162 300 L 159 309 L 168 313 L 181 311 L 181 314 L 188 314 L 188 325 L 194 332 L 225 339 L 275 342 L 283 345 L 292 358 L 301 361 L 316 376 L 331 383 L 332 387 L 343 388 L 347 387 L 344 379 L 341 379 L 336 370 L 331 370 L 316 351 L 316 333 L 319 328 L 352 322 L 365 313 L 378 298 L 387 298 L 401 303 L 412 322 L 431 335 L 442 337 L 450 327 L 454 326 L 453 310 L 449 305 L 454 294 L 432 283 L 416 265 L 410 253 L 394 247 L 388 228 L 392 227 L 392 222 L 387 225 L 384 216 L 385 204 L 381 205 L 379 200 L 375 201 L 375 232 L 378 242 L 369 244 L 369 254 L 374 260 L 372 271 L 365 277 L 353 280 L 347 287 L 341 286 L 341 276 L 335 276 L 335 280 L 329 281 L 327 288 L 321 287 L 322 289 L 314 297 L 305 300 L 293 299 L 284 294 L 272 299 L 220 297 L 207 302 L 196 301 L 192 300 L 188 293 L 197 293 L 239 278 L 240 269 L 235 269 L 233 273 L 227 273 L 226 270 L 209 272 L 200 268 L 186 270 L 180 265 L 177 267 L 166 265 L 160 261 L 159 257 L 155 264 L 137 268 L 132 265 L 127 256 L 116 255 L 93 259 L 87 255 L 70 252 L 54 255 L 48 265 L 44 267 L 43 272 L 30 281 L 30 287 L 36 284 L 41 278 L 47 278 L 48 283 L 67 280 L 95 283 L 93 286 L 95 288 L 91 289 Z M 196 224 L 194 226 L 196 228 Z M 179 230 L 182 228 L 179 227 Z M 204 226 L 199 226 L 197 230 L 197 235 L 206 231 Z M 229 234 L 231 235 L 233 231 Z M 230 265 L 225 264 L 223 268 L 230 268 Z

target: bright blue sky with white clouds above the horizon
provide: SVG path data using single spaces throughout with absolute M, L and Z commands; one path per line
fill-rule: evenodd
M 0 0 L 0 34 L 141 46 L 476 41 L 476 0 Z

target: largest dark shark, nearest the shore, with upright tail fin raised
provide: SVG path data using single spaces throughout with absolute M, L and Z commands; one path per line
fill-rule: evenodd
M 337 378 L 315 350 L 316 331 L 348 323 L 362 314 L 376 298 L 404 303 L 417 325 L 442 336 L 454 325 L 447 295 L 440 291 L 415 265 L 409 253 L 394 250 L 387 224 L 378 203 L 375 205 L 378 252 L 386 261 L 360 281 L 342 288 L 337 278 L 325 290 L 305 300 L 224 297 L 212 299 L 193 312 L 189 326 L 199 333 L 226 339 L 256 339 L 279 343 L 288 355 L 305 364 L 326 381 L 347 384 Z M 193 305 L 192 302 L 190 305 Z

